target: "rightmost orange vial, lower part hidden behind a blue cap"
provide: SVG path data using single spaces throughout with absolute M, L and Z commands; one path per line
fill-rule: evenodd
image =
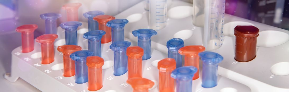
M 185 56 L 185 64 L 184 66 L 194 66 L 198 69 L 198 71 L 195 73 L 193 80 L 199 78 L 199 52 L 205 51 L 204 46 L 199 45 L 191 45 L 191 46 L 185 46 L 179 49 L 179 54 Z

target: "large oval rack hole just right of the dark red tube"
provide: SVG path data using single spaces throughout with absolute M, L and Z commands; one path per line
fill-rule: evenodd
M 259 32 L 257 37 L 257 46 L 260 47 L 274 47 L 284 44 L 289 40 L 287 33 L 275 30 L 266 30 Z

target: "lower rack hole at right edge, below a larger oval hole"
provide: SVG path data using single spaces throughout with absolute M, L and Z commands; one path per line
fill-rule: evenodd
M 288 70 L 289 70 L 289 62 L 279 62 L 271 67 L 271 73 L 279 76 L 289 75 Z

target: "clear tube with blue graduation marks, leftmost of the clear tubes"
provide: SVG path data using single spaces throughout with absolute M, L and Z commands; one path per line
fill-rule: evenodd
M 166 27 L 166 0 L 149 0 L 149 28 L 161 30 Z

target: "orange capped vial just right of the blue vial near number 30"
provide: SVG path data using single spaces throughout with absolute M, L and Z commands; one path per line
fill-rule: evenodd
M 97 91 L 102 88 L 102 66 L 103 58 L 99 56 L 88 56 L 86 65 L 88 66 L 88 90 Z

